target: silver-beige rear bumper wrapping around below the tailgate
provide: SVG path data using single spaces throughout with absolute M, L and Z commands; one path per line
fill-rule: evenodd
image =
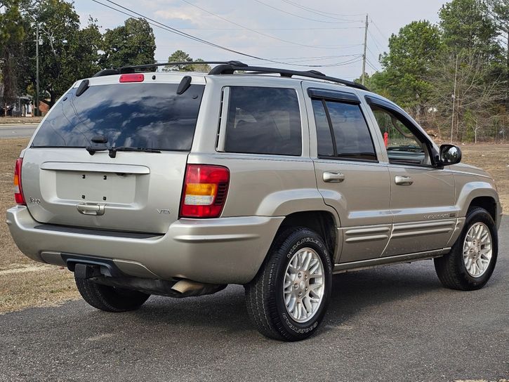
M 180 219 L 165 235 L 119 237 L 44 229 L 27 207 L 7 210 L 20 251 L 35 261 L 65 265 L 62 254 L 114 261 L 126 275 L 183 277 L 212 284 L 245 284 L 258 272 L 284 217 Z M 41 229 L 43 228 L 43 229 Z

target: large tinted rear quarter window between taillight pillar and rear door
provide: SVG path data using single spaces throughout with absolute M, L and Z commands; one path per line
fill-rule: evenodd
M 230 87 L 226 152 L 302 154 L 302 128 L 294 89 Z

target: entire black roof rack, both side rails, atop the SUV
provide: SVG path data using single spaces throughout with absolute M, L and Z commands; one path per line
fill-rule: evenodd
M 275 67 L 258 67 L 249 66 L 240 61 L 183 61 L 183 62 L 157 62 L 154 64 L 145 65 L 128 65 L 120 67 L 119 69 L 104 69 L 95 73 L 93 77 L 110 76 L 112 74 L 126 74 L 134 73 L 137 69 L 150 69 L 158 66 L 176 66 L 176 65 L 191 65 L 191 64 L 204 64 L 204 65 L 217 65 L 213 67 L 209 74 L 233 74 L 239 70 L 251 72 L 251 74 L 279 74 L 281 77 L 308 77 L 313 79 L 322 79 L 325 81 L 336 82 L 337 84 L 343 84 L 350 86 L 351 88 L 358 88 L 362 90 L 368 90 L 366 86 L 357 84 L 354 81 L 348 81 L 347 79 L 341 79 L 336 77 L 329 77 L 318 72 L 317 70 L 299 71 L 299 70 L 288 70 L 278 69 Z

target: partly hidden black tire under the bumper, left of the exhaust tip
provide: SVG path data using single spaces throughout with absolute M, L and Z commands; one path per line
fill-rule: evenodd
M 150 297 L 150 294 L 97 284 L 90 279 L 74 280 L 81 297 L 89 305 L 105 312 L 136 310 Z

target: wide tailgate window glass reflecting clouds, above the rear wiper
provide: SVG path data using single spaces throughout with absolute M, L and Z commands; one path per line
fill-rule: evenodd
M 53 107 L 32 147 L 86 147 L 105 136 L 108 146 L 187 151 L 204 85 L 176 93 L 178 84 L 90 86 L 77 97 L 67 92 Z

